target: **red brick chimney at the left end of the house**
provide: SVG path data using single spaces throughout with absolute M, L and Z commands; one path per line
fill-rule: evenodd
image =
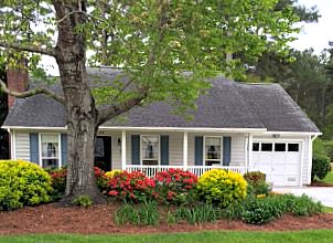
M 28 68 L 26 62 L 20 61 L 14 66 L 7 68 L 7 86 L 11 91 L 25 92 L 28 89 Z M 8 108 L 10 109 L 15 102 L 13 96 L 8 95 Z

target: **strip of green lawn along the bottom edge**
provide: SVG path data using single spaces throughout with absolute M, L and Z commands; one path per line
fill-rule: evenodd
M 299 231 L 299 232 L 237 232 L 237 231 L 202 231 L 195 233 L 169 234 L 132 234 L 132 235 L 78 235 L 78 234 L 36 234 L 20 236 L 0 236 L 2 242 L 39 243 L 39 242 L 108 242 L 108 243 L 283 243 L 283 242 L 332 242 L 333 230 Z

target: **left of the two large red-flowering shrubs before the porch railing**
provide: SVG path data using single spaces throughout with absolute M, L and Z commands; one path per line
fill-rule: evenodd
M 126 202 L 146 202 L 151 200 L 154 187 L 142 172 L 123 171 L 109 180 L 107 194 Z

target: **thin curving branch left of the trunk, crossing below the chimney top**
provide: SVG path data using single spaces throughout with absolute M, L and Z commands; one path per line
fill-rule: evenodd
M 3 81 L 0 80 L 0 91 L 3 91 L 6 94 L 11 95 L 13 97 L 17 98 L 26 98 L 36 94 L 44 94 L 57 102 L 60 102 L 61 104 L 65 104 L 65 98 L 61 95 L 55 94 L 54 92 L 44 88 L 44 87 L 36 87 L 26 92 L 15 92 L 15 91 L 11 91 L 7 87 L 6 83 Z

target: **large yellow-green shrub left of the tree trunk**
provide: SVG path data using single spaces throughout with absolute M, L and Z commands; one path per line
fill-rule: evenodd
M 0 160 L 0 210 L 49 202 L 51 193 L 51 177 L 37 165 Z

